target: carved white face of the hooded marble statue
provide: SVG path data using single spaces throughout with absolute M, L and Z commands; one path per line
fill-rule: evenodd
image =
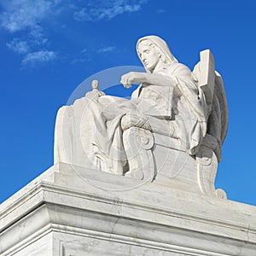
M 157 66 L 160 61 L 157 49 L 147 44 L 147 42 L 142 42 L 138 45 L 138 53 L 143 61 L 144 66 L 151 72 Z

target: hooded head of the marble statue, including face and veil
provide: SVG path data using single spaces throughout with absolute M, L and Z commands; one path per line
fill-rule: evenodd
M 150 73 L 159 71 L 172 62 L 177 62 L 166 42 L 156 36 L 147 36 L 137 41 L 137 54 Z

